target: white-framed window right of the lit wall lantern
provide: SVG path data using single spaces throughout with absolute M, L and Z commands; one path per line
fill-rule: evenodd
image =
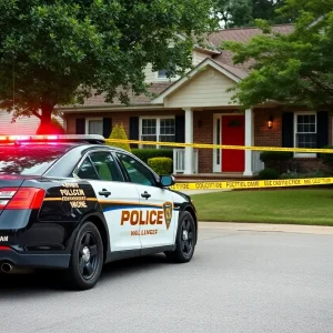
M 316 114 L 296 113 L 295 114 L 295 147 L 316 148 Z M 314 157 L 313 153 L 297 153 L 302 157 Z

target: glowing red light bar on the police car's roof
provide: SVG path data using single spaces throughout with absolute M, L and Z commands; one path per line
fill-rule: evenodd
M 0 135 L 0 142 L 17 141 L 102 141 L 105 139 L 99 134 L 44 134 L 44 135 Z

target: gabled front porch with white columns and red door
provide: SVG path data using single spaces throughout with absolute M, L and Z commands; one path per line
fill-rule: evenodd
M 241 80 L 238 71 L 206 59 L 188 77 L 163 91 L 152 104 L 169 110 L 182 110 L 183 133 L 176 142 L 254 145 L 254 111 L 240 112 L 230 103 L 234 87 Z M 196 149 L 173 150 L 175 175 L 196 174 L 253 176 L 263 169 L 260 152 L 248 150 Z

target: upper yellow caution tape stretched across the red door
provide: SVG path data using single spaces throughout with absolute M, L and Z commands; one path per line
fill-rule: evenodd
M 333 153 L 333 149 L 319 148 L 284 148 L 284 147 L 252 147 L 252 145 L 225 145 L 225 144 L 204 144 L 204 143 L 181 143 L 181 142 L 160 142 L 160 141 L 141 141 L 141 140 L 120 140 L 105 139 L 105 142 L 133 143 L 133 144 L 150 144 L 165 147 L 192 147 L 202 149 L 231 149 L 231 150 L 254 150 L 254 151 L 289 151 L 303 153 Z

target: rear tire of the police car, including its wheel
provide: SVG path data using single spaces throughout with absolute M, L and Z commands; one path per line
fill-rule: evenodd
M 97 226 L 85 222 L 75 236 L 64 281 L 71 290 L 92 289 L 103 268 L 103 242 Z

